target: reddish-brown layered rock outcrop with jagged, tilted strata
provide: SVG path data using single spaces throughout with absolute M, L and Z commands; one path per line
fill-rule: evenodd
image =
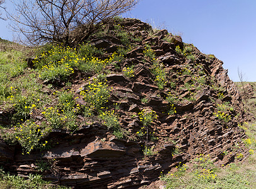
M 108 25 L 108 35 L 92 38 L 91 45 L 108 54 L 125 47 L 119 37 L 110 35 L 113 25 Z M 107 83 L 112 88 L 109 103 L 119 105 L 120 127 L 129 137 L 119 139 L 102 122 L 94 121 L 73 133 L 52 130 L 48 139 L 56 143 L 43 152 L 23 155 L 20 146 L 8 146 L 0 140 L 4 168 L 28 176 L 38 172 L 38 161 L 44 161 L 50 169 L 42 173 L 43 177 L 59 185 L 138 188 L 198 154 L 209 154 L 216 164 L 228 164 L 236 153 L 243 152 L 240 147 L 230 153 L 245 138 L 238 127 L 245 117 L 240 94 L 223 69 L 223 62 L 202 54 L 166 30 L 152 32 L 151 26 L 139 20 L 124 19 L 119 25 L 131 37 L 141 39 L 132 42 L 134 47 L 124 60 L 106 68 L 110 70 Z M 145 50 L 154 52 L 154 57 L 146 55 Z M 134 66 L 134 76 L 127 77 L 124 68 L 130 66 Z M 156 70 L 165 75 L 162 83 Z M 73 85 L 78 97 L 88 82 Z M 77 101 L 83 103 L 81 98 Z M 156 114 L 144 129 L 138 115 L 143 110 Z M 1 122 L 4 118 L 0 114 Z M 140 132 L 144 134 L 138 136 Z M 151 154 L 144 153 L 145 146 Z M 247 156 L 247 152 L 243 154 Z

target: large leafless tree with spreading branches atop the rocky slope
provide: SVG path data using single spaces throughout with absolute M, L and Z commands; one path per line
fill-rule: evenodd
M 100 25 L 132 9 L 139 0 L 20 0 L 11 28 L 30 45 L 78 43 Z M 19 38 L 24 42 L 24 38 Z

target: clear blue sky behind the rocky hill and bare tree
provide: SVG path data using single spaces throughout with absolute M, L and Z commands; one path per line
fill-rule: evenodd
M 233 81 L 238 67 L 246 81 L 256 81 L 255 0 L 141 0 L 124 16 L 181 34 L 183 42 L 223 60 Z M 12 40 L 7 23 L 0 21 L 0 37 Z

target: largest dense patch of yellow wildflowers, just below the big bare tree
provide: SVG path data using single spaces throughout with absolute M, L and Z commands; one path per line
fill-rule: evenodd
M 86 47 L 88 49 L 83 50 L 89 51 L 91 49 L 89 46 Z M 101 60 L 93 57 L 89 52 L 85 56 L 79 53 L 79 51 L 76 52 L 76 49 L 72 49 L 71 47 L 57 45 L 48 52 L 43 52 L 40 57 L 36 57 L 33 60 L 33 64 L 42 70 L 40 73 L 42 79 L 51 80 L 57 76 L 61 77 L 61 79 L 67 79 L 74 73 L 75 67 L 85 72 L 99 72 L 117 56 L 115 52 L 108 59 Z

